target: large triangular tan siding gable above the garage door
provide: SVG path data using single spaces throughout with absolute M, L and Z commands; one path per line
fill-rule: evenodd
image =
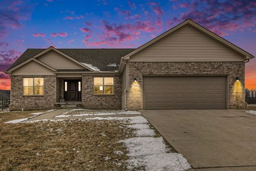
M 130 61 L 229 62 L 244 59 L 234 50 L 187 24 L 132 55 Z

